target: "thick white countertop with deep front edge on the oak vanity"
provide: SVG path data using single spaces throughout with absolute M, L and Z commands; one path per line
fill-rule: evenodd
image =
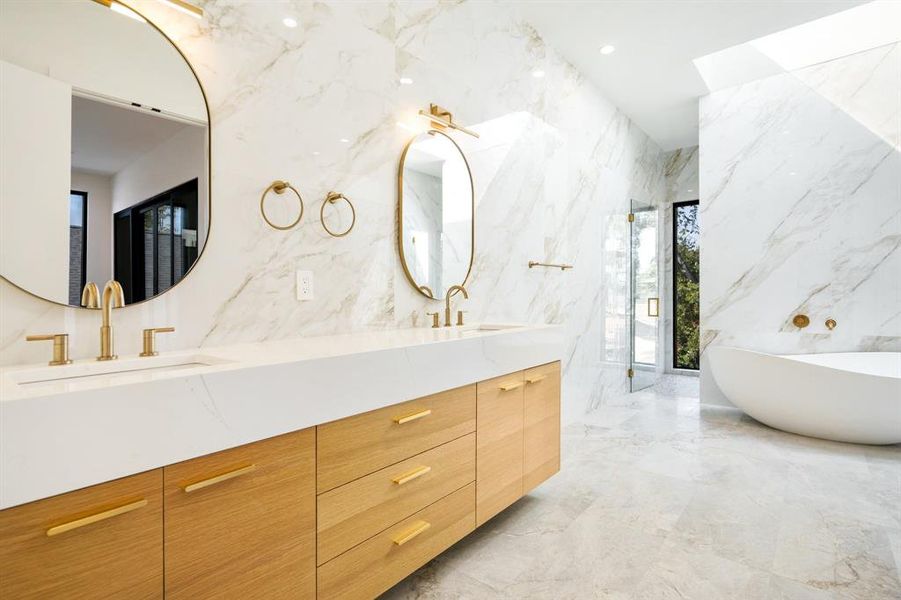
M 557 326 L 474 325 L 3 368 L 0 509 L 560 360 L 562 353 Z M 118 372 L 101 372 L 109 369 Z

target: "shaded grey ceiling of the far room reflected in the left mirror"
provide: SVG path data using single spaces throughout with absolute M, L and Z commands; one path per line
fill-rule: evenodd
M 72 168 L 113 175 L 186 127 L 153 113 L 72 97 Z

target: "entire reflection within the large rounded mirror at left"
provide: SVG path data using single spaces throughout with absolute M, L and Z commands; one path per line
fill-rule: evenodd
M 191 67 L 136 13 L 3 0 L 0 275 L 79 306 L 178 283 L 209 228 L 209 118 Z

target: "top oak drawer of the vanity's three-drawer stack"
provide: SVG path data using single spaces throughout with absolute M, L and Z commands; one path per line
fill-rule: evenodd
M 317 488 L 326 492 L 475 429 L 474 384 L 320 425 Z

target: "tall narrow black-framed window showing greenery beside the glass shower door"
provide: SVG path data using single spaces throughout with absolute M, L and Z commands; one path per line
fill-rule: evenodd
M 700 364 L 700 254 L 698 201 L 673 204 L 673 367 Z

